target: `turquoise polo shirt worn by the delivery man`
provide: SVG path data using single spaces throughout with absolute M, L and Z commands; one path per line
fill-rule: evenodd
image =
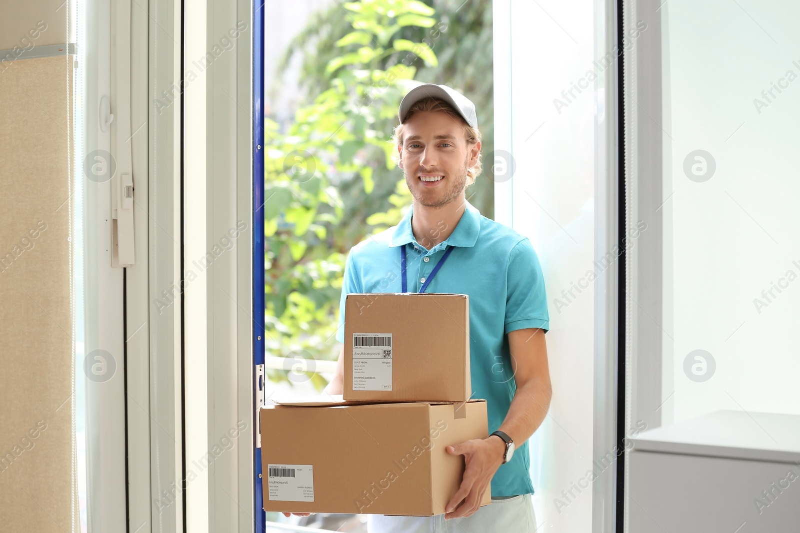
M 506 334 L 522 328 L 549 329 L 542 268 L 527 237 L 482 216 L 469 202 L 450 237 L 425 249 L 411 231 L 413 205 L 392 228 L 367 237 L 350 249 L 345 262 L 336 338 L 344 342 L 345 298 L 350 292 L 402 292 L 400 247 L 406 245 L 408 292 L 419 292 L 453 245 L 426 292 L 470 296 L 470 369 L 473 398 L 486 400 L 489 432 L 496 431 L 516 391 Z M 530 494 L 530 454 L 522 444 L 491 482 L 492 496 Z

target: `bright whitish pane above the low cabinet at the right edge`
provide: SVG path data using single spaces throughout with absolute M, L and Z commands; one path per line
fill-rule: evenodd
M 662 423 L 798 414 L 800 9 L 678 0 L 663 16 Z

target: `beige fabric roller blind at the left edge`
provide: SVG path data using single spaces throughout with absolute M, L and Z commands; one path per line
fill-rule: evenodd
M 22 59 L 0 73 L 0 531 L 78 524 L 73 59 Z

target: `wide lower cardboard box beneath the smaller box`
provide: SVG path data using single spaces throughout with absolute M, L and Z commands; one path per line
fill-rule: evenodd
M 265 511 L 442 514 L 464 470 L 446 446 L 488 435 L 485 400 L 295 403 L 259 414 Z

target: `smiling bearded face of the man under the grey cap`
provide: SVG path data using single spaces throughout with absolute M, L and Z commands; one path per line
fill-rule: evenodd
M 463 122 L 443 111 L 417 111 L 404 124 L 399 165 L 414 199 L 440 207 L 462 198 L 480 143 L 467 146 Z

